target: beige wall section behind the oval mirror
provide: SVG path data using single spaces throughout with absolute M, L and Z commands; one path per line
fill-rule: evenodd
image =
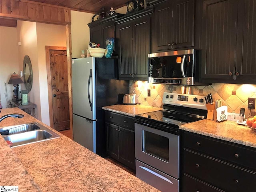
M 18 21 L 17 35 L 18 41 L 22 43 L 21 46 L 18 46 L 20 69 L 23 70 L 23 59 L 25 55 L 28 55 L 31 60 L 33 70 L 33 84 L 32 89 L 28 94 L 28 98 L 30 102 L 36 104 L 36 118 L 38 118 L 38 120 L 41 120 L 36 23 L 28 21 Z M 24 84 L 22 84 L 22 89 L 25 89 Z

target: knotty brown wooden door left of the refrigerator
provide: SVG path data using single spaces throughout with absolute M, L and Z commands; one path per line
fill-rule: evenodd
M 49 98 L 51 97 L 50 99 L 52 100 L 52 116 L 50 113 L 51 127 L 58 131 L 69 129 L 70 117 L 66 50 L 50 50 L 50 74 L 48 74 L 48 79 L 50 79 L 51 84 L 51 90 L 48 90 Z

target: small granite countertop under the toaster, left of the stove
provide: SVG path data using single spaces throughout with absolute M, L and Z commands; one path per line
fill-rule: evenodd
M 104 110 L 128 115 L 134 117 L 135 115 L 142 114 L 142 113 L 149 113 L 154 111 L 160 111 L 162 108 L 158 107 L 151 107 L 151 106 L 145 106 L 145 105 L 111 105 L 111 106 L 105 106 L 102 107 Z

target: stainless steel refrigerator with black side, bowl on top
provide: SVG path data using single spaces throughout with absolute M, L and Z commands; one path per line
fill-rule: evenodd
M 118 104 L 118 94 L 129 93 L 129 81 L 118 80 L 118 60 L 72 59 L 74 141 L 100 156 L 106 155 L 102 106 Z

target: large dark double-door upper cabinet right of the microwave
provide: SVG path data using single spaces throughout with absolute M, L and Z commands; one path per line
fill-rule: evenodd
M 205 0 L 202 18 L 202 79 L 253 83 L 256 47 L 254 0 Z M 218 21 L 218 22 L 216 22 Z

